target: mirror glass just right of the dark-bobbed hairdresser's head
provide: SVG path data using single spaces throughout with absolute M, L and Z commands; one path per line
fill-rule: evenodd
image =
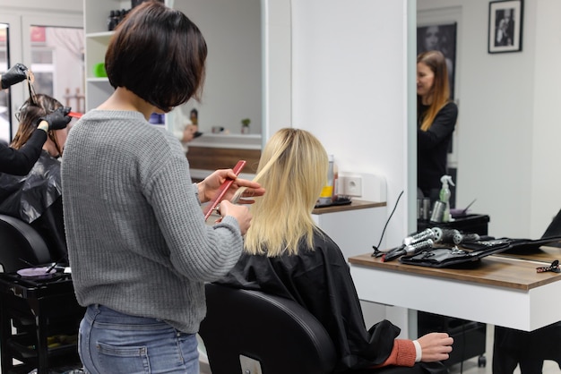
M 176 108 L 184 118 L 195 109 L 200 132 L 241 133 L 262 128 L 261 0 L 176 0 L 207 42 L 207 73 L 201 102 Z M 179 114 L 181 115 L 181 114 Z

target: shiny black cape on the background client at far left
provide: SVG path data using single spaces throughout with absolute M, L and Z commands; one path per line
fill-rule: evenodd
M 0 174 L 0 214 L 30 224 L 45 240 L 52 259 L 65 263 L 60 166 L 58 159 L 43 150 L 29 174 Z

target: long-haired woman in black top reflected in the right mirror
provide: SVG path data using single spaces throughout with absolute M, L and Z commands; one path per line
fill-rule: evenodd
M 444 55 L 423 52 L 417 57 L 417 186 L 433 200 L 441 187 L 440 178 L 447 174 L 448 147 L 457 118 Z

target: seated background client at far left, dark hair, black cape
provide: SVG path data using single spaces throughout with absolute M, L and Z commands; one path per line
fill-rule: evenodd
M 68 123 L 70 117 L 55 98 L 34 95 L 26 100 L 16 113 L 20 122 L 11 147 L 21 149 L 37 130 L 41 121 Z M 65 147 L 67 128 L 50 130 L 39 160 L 24 176 L 0 174 L 0 213 L 22 219 L 33 226 L 47 243 L 52 259 L 66 255 L 65 226 L 63 222 L 60 157 Z M 35 265 L 35 264 L 34 264 Z

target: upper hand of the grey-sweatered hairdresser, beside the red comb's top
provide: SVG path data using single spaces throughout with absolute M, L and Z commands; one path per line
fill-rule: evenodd
M 203 182 L 198 183 L 199 200 L 201 200 L 201 202 L 206 202 L 214 199 L 220 190 L 220 186 L 227 179 L 233 179 L 234 183 L 232 183 L 229 190 L 224 194 L 224 200 L 231 200 L 240 187 L 246 187 L 246 191 L 242 193 L 242 199 L 238 201 L 238 204 L 252 204 L 255 200 L 251 198 L 263 196 L 265 193 L 265 189 L 261 187 L 261 184 L 237 178 L 237 175 L 232 169 L 220 169 L 207 176 Z

